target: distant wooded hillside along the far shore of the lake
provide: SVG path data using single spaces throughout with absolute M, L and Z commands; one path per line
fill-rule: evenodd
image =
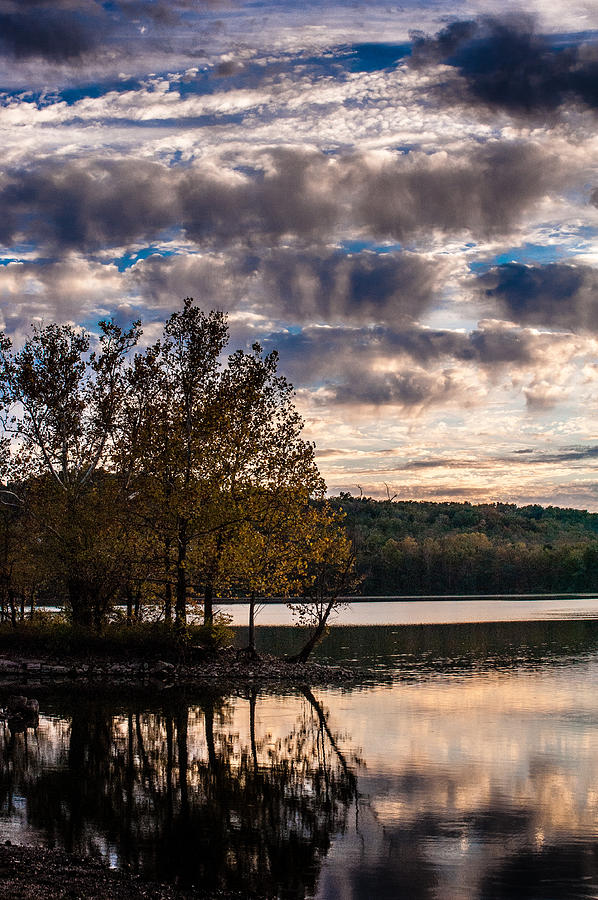
M 341 494 L 362 594 L 598 590 L 598 514 Z

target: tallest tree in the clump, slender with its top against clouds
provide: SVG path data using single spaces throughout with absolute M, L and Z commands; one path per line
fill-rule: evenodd
M 129 374 L 121 466 L 140 497 L 144 525 L 160 545 L 167 617 L 174 586 L 180 627 L 187 620 L 191 551 L 209 527 L 208 509 L 220 480 L 217 387 L 226 339 L 224 315 L 206 315 L 188 297 Z

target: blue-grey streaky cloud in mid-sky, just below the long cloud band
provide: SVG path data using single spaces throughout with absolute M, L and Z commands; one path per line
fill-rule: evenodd
M 415 253 L 278 251 L 261 273 L 279 315 L 366 322 L 417 318 L 437 296 L 441 267 Z

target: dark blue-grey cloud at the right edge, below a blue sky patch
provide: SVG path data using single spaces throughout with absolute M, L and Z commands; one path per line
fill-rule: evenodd
M 598 271 L 591 266 L 506 263 L 478 279 L 483 296 L 515 322 L 571 331 L 598 329 Z

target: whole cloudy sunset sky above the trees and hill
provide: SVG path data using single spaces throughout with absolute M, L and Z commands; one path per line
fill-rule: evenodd
M 595 0 L 0 0 L 0 327 L 280 353 L 331 493 L 598 510 Z

